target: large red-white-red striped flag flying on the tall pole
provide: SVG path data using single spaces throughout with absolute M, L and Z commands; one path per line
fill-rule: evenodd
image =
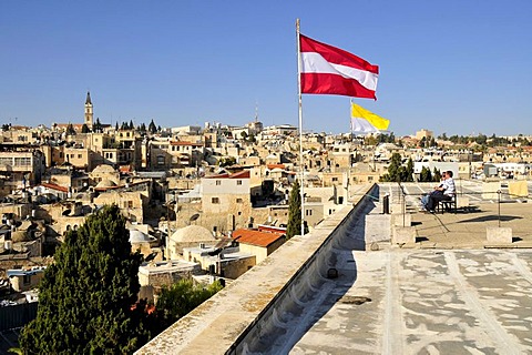
M 375 99 L 379 67 L 299 34 L 301 93 Z

